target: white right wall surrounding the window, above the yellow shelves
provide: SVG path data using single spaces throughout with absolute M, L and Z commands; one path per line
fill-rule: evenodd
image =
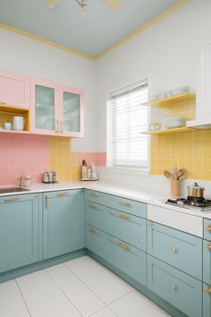
M 150 92 L 183 85 L 196 90 L 198 43 L 211 34 L 210 0 L 190 0 L 180 9 L 97 61 L 97 150 L 106 150 L 106 98 L 118 88 L 148 77 Z M 149 185 L 163 177 L 120 176 L 101 169 L 101 177 Z M 158 181 L 159 180 L 159 181 Z

